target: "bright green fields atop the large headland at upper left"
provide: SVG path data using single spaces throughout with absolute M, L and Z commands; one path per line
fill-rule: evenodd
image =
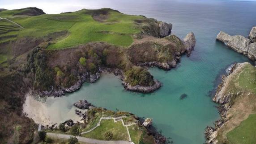
M 41 15 L 34 16 L 31 11 L 34 15 Z M 82 9 L 60 14 L 43 13 L 38 8 L 1 11 L 0 17 L 12 17 L 9 20 L 24 29 L 6 19 L 0 20 L 0 43 L 21 37 L 42 38 L 50 33 L 67 31 L 63 37 L 53 41 L 48 49 L 67 48 L 94 41 L 129 46 L 133 41 L 132 35 L 141 31 L 141 23 L 138 24 L 135 20 L 147 19 L 144 16 L 126 15 L 110 8 Z

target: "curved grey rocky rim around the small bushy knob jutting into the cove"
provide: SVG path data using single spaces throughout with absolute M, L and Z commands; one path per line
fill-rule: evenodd
M 129 83 L 125 82 L 124 80 L 122 81 L 122 84 L 124 85 L 124 89 L 128 91 L 150 93 L 158 90 L 162 86 L 162 83 L 159 82 L 158 80 L 154 79 L 154 82 L 155 84 L 153 86 L 140 86 L 140 85 L 131 86 Z

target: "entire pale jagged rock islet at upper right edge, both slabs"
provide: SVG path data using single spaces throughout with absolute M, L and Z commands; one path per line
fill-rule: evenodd
M 243 53 L 251 60 L 256 61 L 255 44 L 251 42 L 256 41 L 256 27 L 252 28 L 249 38 L 243 37 L 241 35 L 230 36 L 229 34 L 221 31 L 218 33 L 216 39 L 218 41 L 224 42 L 228 47 L 234 49 L 236 52 Z

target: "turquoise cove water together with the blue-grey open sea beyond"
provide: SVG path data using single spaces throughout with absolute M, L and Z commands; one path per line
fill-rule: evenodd
M 162 88 L 152 94 L 125 91 L 119 78 L 102 74 L 96 83 L 84 83 L 79 91 L 60 98 L 48 98 L 46 104 L 52 118 L 56 122 L 68 119 L 67 113 L 73 111 L 75 115 L 73 103 L 86 99 L 97 107 L 153 118 L 154 126 L 164 136 L 171 137 L 175 144 L 203 144 L 205 127 L 219 119 L 211 95 L 220 82 L 220 76 L 234 62 L 251 62 L 215 38 L 220 31 L 247 37 L 252 26 L 256 25 L 256 2 L 89 0 L 88 4 L 81 3 L 85 8 L 114 8 L 126 14 L 172 23 L 172 33 L 181 38 L 194 32 L 196 47 L 189 58 L 181 58 L 175 69 L 149 69 L 154 78 L 163 83 Z M 188 96 L 180 99 L 182 94 Z

